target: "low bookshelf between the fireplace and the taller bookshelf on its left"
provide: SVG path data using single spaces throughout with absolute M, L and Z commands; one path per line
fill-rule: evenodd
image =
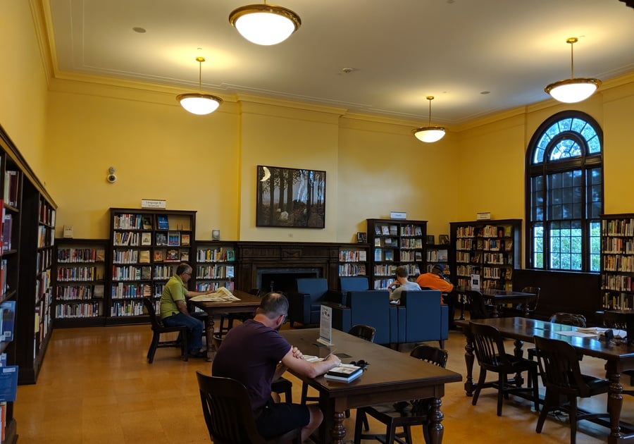
M 234 289 L 236 257 L 232 242 L 201 240 L 196 242 L 196 291 Z

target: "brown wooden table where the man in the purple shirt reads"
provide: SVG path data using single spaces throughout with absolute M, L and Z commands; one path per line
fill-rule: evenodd
M 442 443 L 444 416 L 440 412 L 440 398 L 445 395 L 446 383 L 462 381 L 460 374 L 334 329 L 332 347 L 317 343 L 318 328 L 282 330 L 280 333 L 304 354 L 325 357 L 330 350 L 336 349 L 335 354 L 344 363 L 359 359 L 369 362 L 363 375 L 351 383 L 294 374 L 319 392 L 319 404 L 324 413 L 319 432 L 321 443 L 344 443 L 346 429 L 343 421 L 347 409 L 425 397 L 434 398 L 429 426 L 431 442 Z

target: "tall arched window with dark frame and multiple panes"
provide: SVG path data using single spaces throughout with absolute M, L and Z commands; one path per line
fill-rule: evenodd
M 603 132 L 580 111 L 548 118 L 526 152 L 526 268 L 600 269 Z

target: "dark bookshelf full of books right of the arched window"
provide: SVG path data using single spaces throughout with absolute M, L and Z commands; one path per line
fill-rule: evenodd
M 604 309 L 634 308 L 634 214 L 601 216 Z

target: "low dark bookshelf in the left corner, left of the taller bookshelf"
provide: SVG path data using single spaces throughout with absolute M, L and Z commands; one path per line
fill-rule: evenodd
M 55 243 L 54 327 L 103 326 L 108 240 L 61 238 Z

